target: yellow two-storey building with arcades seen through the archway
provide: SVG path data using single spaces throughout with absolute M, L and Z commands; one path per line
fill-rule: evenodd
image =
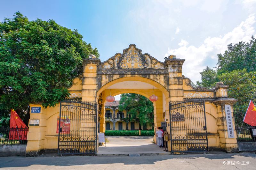
M 138 118 L 130 121 L 126 110 L 119 111 L 119 100 L 105 104 L 105 129 L 106 130 L 136 130 L 151 129 L 147 124 L 140 125 Z

